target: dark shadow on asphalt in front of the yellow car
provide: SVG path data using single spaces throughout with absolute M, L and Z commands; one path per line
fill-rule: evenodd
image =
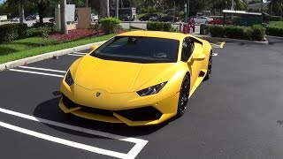
M 161 130 L 165 125 L 169 125 L 171 121 L 176 119 L 175 117 L 173 117 L 172 119 L 160 125 L 148 125 L 148 126 L 127 126 L 125 124 L 104 123 L 104 122 L 85 119 L 82 117 L 76 117 L 72 114 L 65 114 L 58 107 L 59 101 L 60 101 L 60 97 L 56 97 L 40 103 L 39 105 L 36 106 L 34 110 L 34 117 L 36 117 L 39 121 L 42 121 L 43 124 L 45 124 L 45 122 L 42 119 L 47 119 L 50 121 L 55 121 L 66 125 L 74 125 L 103 133 L 112 133 L 127 137 L 138 137 L 138 136 L 145 136 L 150 133 L 155 133 Z M 64 133 L 71 133 L 74 135 L 80 135 L 89 138 L 94 138 L 94 137 L 103 138 L 100 136 L 90 135 L 87 133 L 72 131 L 70 129 L 66 129 L 56 125 L 49 125 L 49 124 L 45 124 L 45 125 L 48 125 L 51 128 Z

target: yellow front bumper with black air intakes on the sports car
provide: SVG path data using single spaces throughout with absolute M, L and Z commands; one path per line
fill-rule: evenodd
M 65 113 L 108 123 L 126 125 L 157 125 L 177 113 L 179 91 L 161 91 L 157 95 L 141 97 L 134 93 L 108 93 L 89 90 L 63 80 L 59 107 Z M 96 93 L 100 93 L 99 97 Z

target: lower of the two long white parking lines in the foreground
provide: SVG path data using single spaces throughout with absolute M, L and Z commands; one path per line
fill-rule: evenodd
M 42 140 L 50 140 L 52 142 L 63 144 L 69 147 L 80 148 L 80 149 L 87 150 L 87 151 L 94 152 L 94 153 L 101 154 L 101 155 L 110 155 L 110 156 L 117 157 L 117 158 L 126 158 L 126 154 L 122 154 L 122 153 L 118 153 L 118 152 L 114 152 L 114 151 L 110 151 L 110 150 L 106 150 L 102 148 L 91 147 L 91 146 L 81 144 L 78 142 L 74 142 L 71 140 L 64 140 L 64 139 L 60 139 L 57 137 L 53 137 L 53 136 L 50 136 L 44 133 L 37 133 L 34 131 L 27 130 L 25 128 L 21 128 L 19 126 L 9 125 L 1 121 L 0 121 L 0 126 L 16 131 L 16 132 L 19 132 L 19 133 L 26 133 L 27 135 L 31 135 L 36 138 L 40 138 Z

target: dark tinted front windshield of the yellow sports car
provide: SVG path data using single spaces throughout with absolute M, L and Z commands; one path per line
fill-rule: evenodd
M 133 63 L 176 63 L 179 41 L 154 37 L 116 36 L 90 55 Z

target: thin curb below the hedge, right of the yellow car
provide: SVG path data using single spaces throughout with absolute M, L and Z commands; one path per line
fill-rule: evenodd
M 198 35 L 198 34 L 195 34 L 194 36 L 198 37 L 198 38 L 202 38 L 204 40 L 209 40 L 209 41 L 241 42 L 241 43 L 246 43 L 246 44 L 261 44 L 261 45 L 268 45 L 269 44 L 269 42 L 267 41 L 266 38 L 264 38 L 264 42 L 257 42 L 257 41 L 241 40 L 241 39 L 211 37 L 211 36 L 207 36 L 207 35 Z

